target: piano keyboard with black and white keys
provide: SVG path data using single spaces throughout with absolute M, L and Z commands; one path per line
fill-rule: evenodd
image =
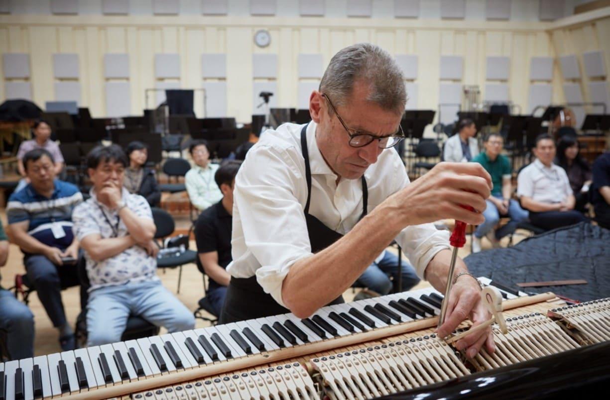
M 493 285 L 481 278 L 484 285 Z M 495 285 L 505 299 L 525 293 Z M 295 357 L 323 346 L 305 346 L 347 339 L 357 334 L 406 326 L 425 321 L 421 327 L 436 325 L 442 295 L 433 288 L 395 293 L 323 307 L 301 320 L 292 313 L 268 316 L 202 329 L 187 330 L 109 345 L 65 351 L 0 363 L 0 400 L 56 398 L 82 395 L 95 398 L 95 390 L 156 377 L 169 377 L 201 366 L 220 366 L 228 361 L 259 356 L 260 362 Z M 398 332 L 398 331 L 397 331 Z M 337 342 L 356 343 L 357 340 Z M 280 352 L 288 354 L 280 357 Z M 240 364 L 241 365 L 241 364 Z M 217 368 L 227 371 L 230 367 Z M 236 368 L 232 368 L 235 370 Z M 193 374 L 194 375 L 194 374 Z

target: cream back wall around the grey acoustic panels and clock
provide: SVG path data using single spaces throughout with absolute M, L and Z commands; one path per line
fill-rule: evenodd
M 535 55 L 605 51 L 610 68 L 608 9 L 571 16 L 554 23 L 536 21 L 452 21 L 354 18 L 281 18 L 235 16 L 0 16 L 0 53 L 30 54 L 32 99 L 41 107 L 55 99 L 52 54 L 77 53 L 80 62 L 81 106 L 93 116 L 106 115 L 103 57 L 128 53 L 131 114 L 141 115 L 146 88 L 155 87 L 154 54 L 177 52 L 182 88 L 199 88 L 201 54 L 227 55 L 228 115 L 251 120 L 253 110 L 252 54 L 278 54 L 278 106 L 297 104 L 300 53 L 321 53 L 326 65 L 344 46 L 370 41 L 392 54 L 418 56 L 418 108 L 437 109 L 440 55 L 462 55 L 461 84 L 477 84 L 484 98 L 487 55 L 511 57 L 509 96 L 525 111 L 529 60 Z M 605 15 L 605 18 L 602 18 Z M 580 19 L 579 19 L 580 18 Z M 584 18 L 584 20 L 583 20 Z M 587 20 L 588 19 L 588 20 Z M 584 21 L 584 22 L 583 22 Z M 574 27 L 576 26 L 576 27 Z M 271 33 L 271 45 L 257 48 L 257 29 Z M 606 40 L 603 40 L 606 38 Z M 556 63 L 557 65 L 557 63 Z M 0 65 L 0 69 L 2 66 Z M 581 68 L 582 70 L 582 68 Z M 584 70 L 583 70 L 584 71 Z M 0 77 L 3 77 L 0 71 Z M 554 69 L 554 102 L 562 102 L 561 73 Z M 586 78 L 583 95 L 587 97 Z M 4 79 L 0 82 L 4 100 Z M 198 100 L 198 98 L 196 98 Z M 196 110 L 201 109 L 198 101 Z

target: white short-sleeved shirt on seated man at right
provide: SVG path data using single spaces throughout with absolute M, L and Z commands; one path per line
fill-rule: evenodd
M 572 195 L 570 181 L 565 170 L 551 163 L 545 166 L 536 159 L 519 173 L 517 196 L 526 196 L 543 203 L 565 202 Z

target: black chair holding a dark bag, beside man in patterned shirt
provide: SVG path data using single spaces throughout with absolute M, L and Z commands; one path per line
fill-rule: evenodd
M 157 227 L 154 235 L 156 240 L 166 238 L 165 243 L 160 246 L 161 250 L 157 255 L 157 268 L 179 268 L 178 271 L 178 291 L 180 293 L 180 281 L 182 279 L 182 265 L 194 263 L 197 259 L 197 252 L 188 249 L 188 236 L 178 235 L 171 237 L 176 229 L 176 223 L 170 213 L 158 207 L 152 207 L 152 219 Z M 175 250 L 175 251 L 174 251 Z M 165 272 L 165 270 L 163 270 Z

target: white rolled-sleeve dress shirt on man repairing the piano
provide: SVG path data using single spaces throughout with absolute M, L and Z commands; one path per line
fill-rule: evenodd
M 362 213 L 361 179 L 341 179 L 323 159 L 315 140 L 317 124 L 307 127 L 312 174 L 309 213 L 340 234 L 349 232 Z M 290 266 L 312 255 L 304 208 L 307 201 L 305 164 L 301 154 L 303 125 L 283 124 L 267 130 L 248 151 L 235 178 L 231 276 L 256 274 L 266 293 L 281 305 L 282 281 Z M 395 149 L 386 149 L 365 172 L 368 212 L 409 184 Z M 449 233 L 432 224 L 406 227 L 396 240 L 423 277 L 432 257 L 448 246 Z M 362 243 L 363 246 L 366 243 Z M 284 305 L 285 306 L 285 305 Z

